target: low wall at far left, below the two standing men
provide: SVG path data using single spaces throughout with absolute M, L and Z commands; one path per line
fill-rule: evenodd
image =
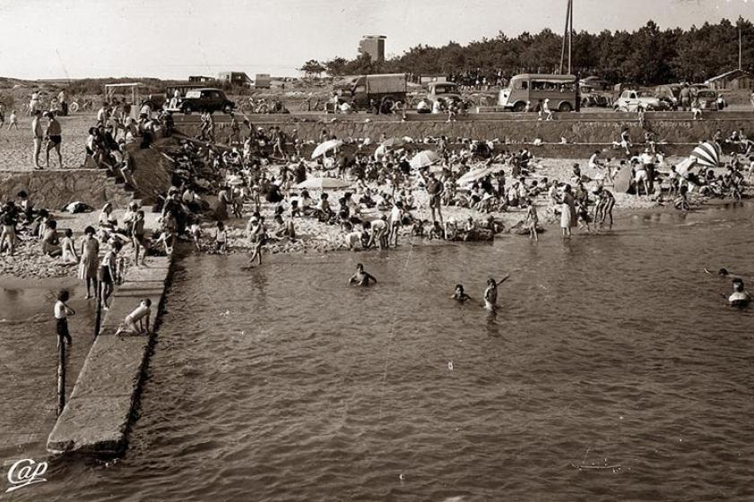
M 0 171 L 0 200 L 14 200 L 26 191 L 35 207 L 58 210 L 74 201 L 100 207 L 111 202 L 125 207 L 130 195 L 102 169 Z

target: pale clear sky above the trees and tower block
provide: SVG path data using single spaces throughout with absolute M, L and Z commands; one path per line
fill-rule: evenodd
M 352 58 L 363 35 L 387 56 L 499 31 L 563 30 L 567 0 L 0 0 L 0 76 L 186 79 L 298 76 Z M 574 29 L 636 30 L 754 18 L 754 0 L 574 0 Z

